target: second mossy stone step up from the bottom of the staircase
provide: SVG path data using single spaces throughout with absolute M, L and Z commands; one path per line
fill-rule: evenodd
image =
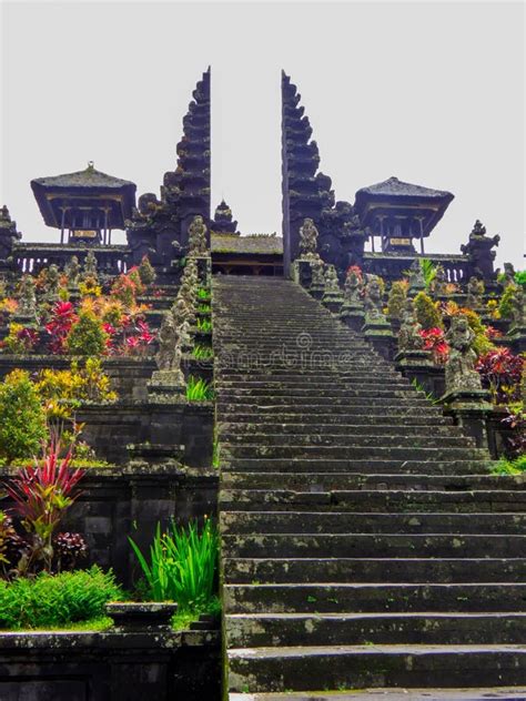
M 526 613 L 234 613 L 225 631 L 230 648 L 522 644 Z

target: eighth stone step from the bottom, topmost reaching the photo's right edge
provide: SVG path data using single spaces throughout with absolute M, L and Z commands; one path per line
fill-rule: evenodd
M 371 475 L 362 473 L 231 473 L 223 470 L 223 489 L 281 489 L 290 491 L 354 491 L 356 489 L 473 491 L 526 489 L 523 475 Z

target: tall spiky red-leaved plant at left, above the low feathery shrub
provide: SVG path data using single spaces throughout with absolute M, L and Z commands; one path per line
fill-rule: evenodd
M 19 569 L 51 571 L 53 536 L 65 511 L 79 497 L 78 482 L 84 471 L 71 469 L 72 449 L 59 458 L 60 445 L 51 440 L 44 447 L 43 463 L 36 461 L 6 481 L 6 491 L 14 502 L 13 510 L 31 539 L 27 562 Z

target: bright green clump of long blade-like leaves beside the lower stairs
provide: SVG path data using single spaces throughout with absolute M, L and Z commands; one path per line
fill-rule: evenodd
M 153 601 L 176 601 L 180 611 L 199 611 L 209 605 L 216 587 L 219 555 L 218 530 L 210 519 L 201 528 L 194 522 L 180 528 L 172 521 L 164 534 L 158 524 L 149 560 L 129 540 Z

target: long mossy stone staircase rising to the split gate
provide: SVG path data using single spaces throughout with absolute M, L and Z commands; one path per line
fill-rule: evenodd
M 294 283 L 213 314 L 225 698 L 526 698 L 523 480 Z

